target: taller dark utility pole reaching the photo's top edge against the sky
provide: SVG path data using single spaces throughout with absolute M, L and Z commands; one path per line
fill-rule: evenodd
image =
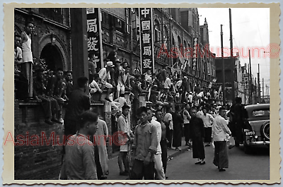
M 231 16 L 231 8 L 229 8 L 229 27 L 230 27 L 230 59 L 233 62 L 232 68 L 232 76 L 233 76 L 233 83 L 232 83 L 232 101 L 235 102 L 235 79 L 238 85 L 238 78 L 236 75 L 235 78 L 235 58 L 233 57 L 233 35 L 232 35 L 232 16 Z M 237 95 L 238 96 L 238 95 Z

